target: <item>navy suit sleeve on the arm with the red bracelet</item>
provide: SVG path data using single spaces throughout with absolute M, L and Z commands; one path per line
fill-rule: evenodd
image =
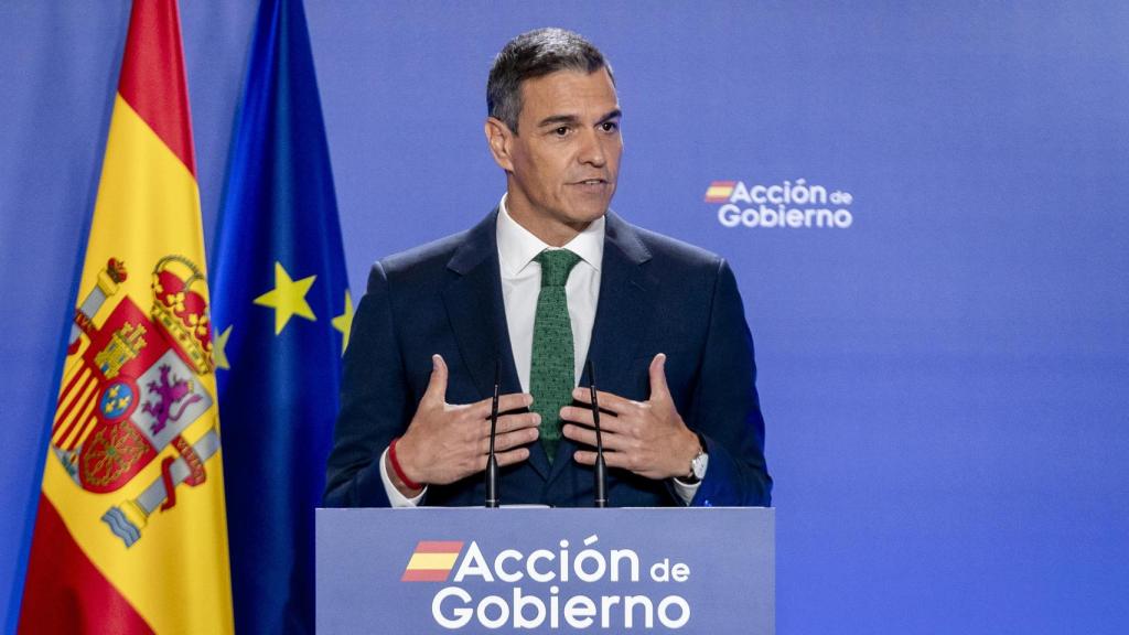
M 326 469 L 327 507 L 387 507 L 380 456 L 410 420 L 388 279 L 373 266 L 353 316 L 341 383 L 341 411 Z

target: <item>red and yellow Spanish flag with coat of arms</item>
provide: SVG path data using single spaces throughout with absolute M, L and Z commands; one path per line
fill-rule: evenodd
M 229 633 L 224 471 L 175 0 L 135 0 L 20 633 Z

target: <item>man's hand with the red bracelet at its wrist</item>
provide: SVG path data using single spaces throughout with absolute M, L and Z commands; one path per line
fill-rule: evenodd
M 493 399 L 457 406 L 447 403 L 447 364 L 431 356 L 431 381 L 408 432 L 396 443 L 396 459 L 404 475 L 419 484 L 444 485 L 481 472 L 490 452 L 490 409 Z M 527 393 L 498 398 L 498 411 L 527 408 L 533 397 Z M 530 458 L 526 445 L 537 438 L 541 417 L 536 412 L 498 416 L 495 454 L 499 466 L 509 466 Z M 420 490 L 409 488 L 391 466 L 388 476 L 404 496 Z

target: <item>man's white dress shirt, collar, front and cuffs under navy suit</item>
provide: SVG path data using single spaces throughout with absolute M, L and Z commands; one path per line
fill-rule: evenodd
M 568 316 L 572 327 L 574 381 L 580 383 L 588 345 L 592 343 L 592 327 L 596 321 L 596 304 L 599 302 L 599 269 L 604 261 L 604 217 L 594 220 L 562 247 L 553 247 L 522 227 L 506 209 L 506 197 L 498 205 L 498 263 L 501 272 L 501 296 L 509 327 L 509 345 L 514 351 L 514 365 L 522 382 L 522 391 L 530 392 L 530 366 L 533 359 L 533 321 L 537 312 L 537 295 L 541 294 L 541 263 L 533 260 L 545 250 L 566 249 L 580 256 L 564 282 L 568 298 Z M 387 454 L 387 450 L 385 450 Z M 414 507 L 427 493 L 408 498 L 400 493 L 384 466 L 380 456 L 380 478 L 393 507 Z M 683 503 L 689 503 L 700 484 L 686 485 L 674 479 L 674 489 Z

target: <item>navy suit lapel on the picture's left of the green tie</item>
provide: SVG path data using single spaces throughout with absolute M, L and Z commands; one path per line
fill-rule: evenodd
M 457 276 L 443 292 L 450 330 L 481 399 L 493 395 L 495 359 L 501 363 L 501 393 L 522 392 L 501 297 L 496 209 L 473 227 L 447 269 Z M 549 460 L 541 444 L 530 447 L 530 464 L 544 478 Z

